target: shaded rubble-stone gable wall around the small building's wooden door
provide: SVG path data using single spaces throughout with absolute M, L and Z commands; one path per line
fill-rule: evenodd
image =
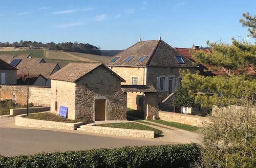
M 95 100 L 106 100 L 105 120 L 126 120 L 126 93 L 120 80 L 110 71 L 99 67 L 76 82 L 76 117 L 95 120 Z

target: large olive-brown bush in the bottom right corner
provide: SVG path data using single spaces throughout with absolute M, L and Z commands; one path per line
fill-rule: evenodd
M 201 129 L 201 167 L 255 167 L 256 114 L 251 100 L 216 108 Z

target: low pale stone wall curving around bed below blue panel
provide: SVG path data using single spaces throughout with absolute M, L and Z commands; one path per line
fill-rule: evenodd
M 55 121 L 45 121 L 45 120 L 35 120 L 24 118 L 19 115 L 15 117 L 15 125 L 17 126 L 25 126 L 25 127 L 36 127 L 36 128 L 55 128 L 55 129 L 66 129 L 66 130 L 75 130 L 77 127 L 82 125 L 83 123 L 62 123 Z

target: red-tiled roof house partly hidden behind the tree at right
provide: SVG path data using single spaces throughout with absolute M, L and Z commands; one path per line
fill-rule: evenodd
M 203 50 L 205 52 L 211 52 L 209 49 L 200 49 L 199 46 L 195 46 L 194 48 L 180 48 L 180 47 L 175 47 L 175 49 L 183 54 L 185 57 L 190 59 L 191 61 L 195 62 L 193 56 L 189 53 L 190 49 L 194 49 L 195 51 Z M 222 67 L 215 67 L 212 65 L 198 65 L 198 70 L 202 75 L 206 76 L 225 76 L 227 75 L 226 71 Z M 205 71 L 207 70 L 207 71 Z M 256 69 L 253 67 L 253 65 L 247 65 L 244 68 L 239 68 L 235 74 L 256 74 Z

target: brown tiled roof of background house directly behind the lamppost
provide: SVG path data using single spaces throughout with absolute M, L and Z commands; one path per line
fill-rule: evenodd
M 28 68 L 29 74 L 39 75 L 41 74 L 45 78 L 49 78 L 55 67 L 58 66 L 56 63 L 38 63 L 34 59 L 26 59 L 21 61 L 17 65 L 17 76 L 22 73 L 23 68 Z M 59 66 L 58 66 L 59 67 Z

